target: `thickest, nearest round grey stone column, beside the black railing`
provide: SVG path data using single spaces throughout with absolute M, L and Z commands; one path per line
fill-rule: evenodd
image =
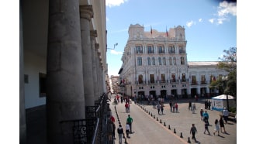
M 73 122 L 85 119 L 78 0 L 49 1 L 47 143 L 73 143 Z

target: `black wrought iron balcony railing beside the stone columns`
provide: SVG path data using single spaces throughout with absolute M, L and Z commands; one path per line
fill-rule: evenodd
M 85 106 L 85 119 L 63 122 L 73 123 L 72 132 L 74 144 L 101 144 L 106 141 L 107 96 L 102 94 L 95 106 Z

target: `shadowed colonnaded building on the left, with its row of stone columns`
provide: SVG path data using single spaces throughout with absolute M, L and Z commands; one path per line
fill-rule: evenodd
M 73 143 L 67 121 L 85 119 L 85 107 L 107 91 L 106 1 L 19 3 L 20 143 L 29 143 L 27 111 L 40 106 L 46 107 L 47 143 Z

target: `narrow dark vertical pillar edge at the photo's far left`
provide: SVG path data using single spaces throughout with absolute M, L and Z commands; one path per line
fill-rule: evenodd
M 22 3 L 19 3 L 19 143 L 26 143 Z

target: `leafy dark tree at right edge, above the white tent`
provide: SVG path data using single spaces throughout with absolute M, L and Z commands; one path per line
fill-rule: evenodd
M 228 92 L 229 94 L 237 97 L 237 47 L 230 47 L 229 50 L 223 50 L 225 53 L 223 57 L 219 57 L 220 62 L 217 68 L 226 70 L 228 74 L 227 88 L 223 89 L 224 81 L 219 77 L 216 81 L 212 81 L 209 85 L 210 88 L 216 88 L 221 93 Z

